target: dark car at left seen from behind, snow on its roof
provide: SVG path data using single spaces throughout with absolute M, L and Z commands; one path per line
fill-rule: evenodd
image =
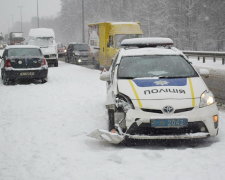
M 39 47 L 7 46 L 1 59 L 1 77 L 4 85 L 24 79 L 38 79 L 42 83 L 47 81 L 48 64 Z

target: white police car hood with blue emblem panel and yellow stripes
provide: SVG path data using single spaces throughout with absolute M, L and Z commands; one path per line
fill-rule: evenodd
M 200 77 L 118 80 L 118 91 L 131 100 L 194 99 L 205 90 Z

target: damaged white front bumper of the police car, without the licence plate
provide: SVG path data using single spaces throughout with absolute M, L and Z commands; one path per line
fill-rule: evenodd
M 97 129 L 89 136 L 112 144 L 119 144 L 124 140 L 186 140 L 203 139 L 218 134 L 218 126 L 213 122 L 213 116 L 218 113 L 216 105 L 206 108 L 193 108 L 189 112 L 176 115 L 164 115 L 143 112 L 140 109 L 131 109 L 126 113 L 124 123 L 126 131 L 118 128 L 118 134 L 106 130 Z M 176 119 L 186 118 L 188 124 L 185 127 L 155 128 L 151 125 L 151 119 Z M 218 122 L 217 122 L 218 123 Z M 118 124 L 117 124 L 118 125 Z

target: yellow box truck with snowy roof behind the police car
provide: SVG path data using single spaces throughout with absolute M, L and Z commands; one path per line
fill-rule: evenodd
M 96 68 L 109 68 L 124 39 L 142 37 L 138 22 L 101 22 L 88 25 L 88 43 Z

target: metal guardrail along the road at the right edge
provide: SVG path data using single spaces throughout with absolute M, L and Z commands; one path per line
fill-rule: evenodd
M 225 52 L 216 51 L 182 51 L 186 56 L 198 57 L 198 60 L 202 57 L 203 63 L 205 63 L 207 57 L 212 57 L 213 62 L 216 62 L 217 58 L 222 59 L 222 64 L 225 64 Z

